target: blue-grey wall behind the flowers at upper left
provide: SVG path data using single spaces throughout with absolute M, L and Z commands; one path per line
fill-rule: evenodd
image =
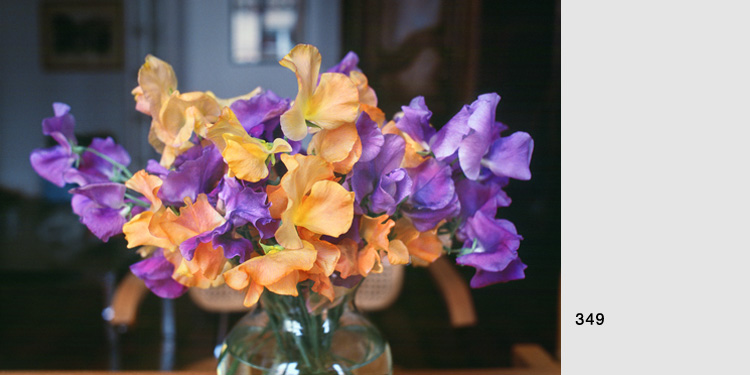
M 175 67 L 180 91 L 211 90 L 220 97 L 256 86 L 294 97 L 294 74 L 278 64 L 235 65 L 229 61 L 227 1 L 136 0 L 125 5 L 125 68 L 119 72 L 50 73 L 39 58 L 41 0 L 0 2 L 0 188 L 40 196 L 43 181 L 29 154 L 45 147 L 41 121 L 52 102 L 72 107 L 77 132 L 110 133 L 141 168 L 153 151 L 147 145 L 148 119 L 133 108 L 130 90 L 138 66 L 152 53 Z M 305 40 L 318 46 L 323 69 L 343 55 L 340 0 L 308 1 Z M 47 185 L 48 186 L 48 185 Z

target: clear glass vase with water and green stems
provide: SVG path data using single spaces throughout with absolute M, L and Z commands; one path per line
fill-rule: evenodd
M 336 288 L 331 302 L 298 285 L 298 296 L 266 290 L 260 306 L 227 335 L 220 375 L 392 374 L 391 350 L 354 306 L 357 288 Z

